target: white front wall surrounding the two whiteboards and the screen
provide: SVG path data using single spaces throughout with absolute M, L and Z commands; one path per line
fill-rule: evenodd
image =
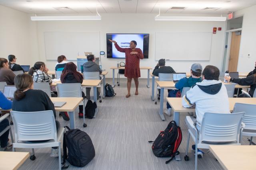
M 86 14 L 85 14 L 86 15 Z M 213 27 L 222 27 L 212 37 L 212 49 L 210 61 L 200 62 L 203 66 L 212 64 L 221 68 L 224 47 L 224 25 L 223 21 L 155 21 L 156 14 L 102 14 L 99 21 L 33 21 L 37 23 L 38 51 L 40 61 L 46 62 L 50 70 L 55 67 L 56 61 L 46 61 L 44 48 L 44 32 L 46 31 L 100 31 L 100 50 L 106 52 L 106 33 L 149 33 L 150 47 L 149 59 L 140 61 L 140 66 L 151 66 L 154 68 L 155 61 L 155 35 L 156 31 L 172 32 L 211 32 Z M 184 47 L 184 50 L 186 47 Z M 62 55 L 62 54 L 60 54 Z M 65 54 L 63 54 L 65 55 Z M 168 54 L 166 54 L 168 55 Z M 96 54 L 99 57 L 98 54 Z M 57 56 L 56 56 L 57 58 Z M 162 58 L 165 58 L 164 56 Z M 191 59 L 193 60 L 193 59 Z M 117 61 L 124 59 L 107 59 L 102 57 L 103 68 L 109 71 L 106 76 L 112 78 L 110 66 L 116 66 Z M 190 71 L 193 61 L 166 61 L 178 72 Z M 141 70 L 141 77 L 147 77 L 147 71 Z

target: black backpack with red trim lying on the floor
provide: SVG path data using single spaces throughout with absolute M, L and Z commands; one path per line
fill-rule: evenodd
M 165 163 L 168 164 L 176 155 L 180 154 L 178 147 L 182 141 L 182 133 L 180 127 L 176 125 L 175 121 L 171 121 L 164 131 L 160 134 L 152 145 L 152 151 L 157 157 L 171 157 Z

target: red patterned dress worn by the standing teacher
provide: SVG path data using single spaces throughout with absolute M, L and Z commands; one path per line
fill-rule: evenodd
M 138 52 L 138 54 L 131 55 L 132 49 L 121 48 L 117 43 L 115 43 L 115 47 L 117 51 L 125 53 L 124 76 L 127 78 L 140 77 L 140 59 L 144 59 L 141 49 L 136 48 L 134 51 Z

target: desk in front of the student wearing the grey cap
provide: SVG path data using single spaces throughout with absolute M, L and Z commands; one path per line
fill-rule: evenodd
M 174 84 L 174 82 L 167 82 L 167 81 L 156 81 L 156 83 L 161 88 L 159 115 L 160 115 L 162 121 L 164 121 L 165 120 L 164 114 L 163 114 L 163 111 L 164 111 L 164 88 L 175 88 L 175 84 Z M 223 84 L 230 84 L 230 83 L 223 83 Z M 240 85 L 236 84 L 236 88 L 246 88 L 246 87 L 248 87 L 248 86 L 240 86 Z

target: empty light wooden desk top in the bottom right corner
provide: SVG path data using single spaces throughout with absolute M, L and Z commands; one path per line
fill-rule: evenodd
M 209 149 L 225 170 L 255 170 L 256 146 L 210 145 Z

